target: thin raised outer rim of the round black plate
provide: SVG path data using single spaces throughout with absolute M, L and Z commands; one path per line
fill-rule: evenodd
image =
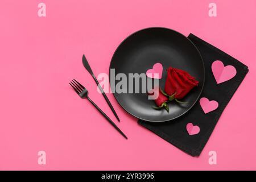
M 200 90 L 199 96 L 197 96 L 195 102 L 188 108 L 188 110 L 186 110 L 184 113 L 182 113 L 182 114 L 180 114 L 180 115 L 177 115 L 175 118 L 172 118 L 172 119 L 165 119 L 165 120 L 160 120 L 160 121 L 152 121 L 152 120 L 150 120 L 150 119 L 143 119 L 143 118 L 141 118 L 141 117 L 138 117 L 138 116 L 134 115 L 133 113 L 131 113 L 130 111 L 128 111 L 125 107 L 123 107 L 122 104 L 118 101 L 117 97 L 115 97 L 115 94 L 113 93 L 115 100 L 116 100 L 116 101 L 118 102 L 118 104 L 122 107 L 122 109 L 124 109 L 127 113 L 133 115 L 133 117 L 135 117 L 135 118 L 137 118 L 137 119 L 141 119 L 142 121 L 158 123 L 158 122 L 173 121 L 174 119 L 179 118 L 179 117 L 181 117 L 182 115 L 184 115 L 185 113 L 187 113 L 187 112 L 188 112 L 189 110 L 191 110 L 191 108 L 196 104 L 196 102 L 199 100 L 199 98 L 200 98 L 200 96 L 201 96 L 201 94 L 202 94 L 202 92 L 203 92 L 203 89 L 204 89 L 204 83 L 205 83 L 205 65 L 204 65 L 203 57 L 201 56 L 201 53 L 200 53 L 199 49 L 196 47 L 196 45 L 195 45 L 190 39 L 187 38 L 187 36 L 181 34 L 180 32 L 178 32 L 178 31 L 176 31 L 176 30 L 173 30 L 173 29 L 171 29 L 171 28 L 166 28 L 166 27 L 147 27 L 147 28 L 143 28 L 143 29 L 141 29 L 141 30 L 138 30 L 138 31 L 133 32 L 132 34 L 128 35 L 125 39 L 123 39 L 121 43 L 119 43 L 118 47 L 115 49 L 115 51 L 114 51 L 114 53 L 113 53 L 113 55 L 112 55 L 112 57 L 111 57 L 111 61 L 110 61 L 110 64 L 109 64 L 109 79 L 110 79 L 110 66 L 112 65 L 113 57 L 114 57 L 115 53 L 117 52 L 118 48 L 119 48 L 127 39 L 129 39 L 131 36 L 133 36 L 134 34 L 137 34 L 137 33 L 140 32 L 140 31 L 144 31 L 144 30 L 148 30 L 148 29 L 155 29 L 155 28 L 162 28 L 162 29 L 165 29 L 165 30 L 168 30 L 168 31 L 170 31 L 170 30 L 171 30 L 171 31 L 174 31 L 174 32 L 176 32 L 177 34 L 180 34 L 181 36 L 183 36 L 185 39 L 187 39 L 187 40 L 193 45 L 193 47 L 196 48 L 196 51 L 199 53 L 200 58 L 201 58 L 200 60 L 201 60 L 201 62 L 203 63 L 203 68 L 204 68 L 203 85 L 202 85 L 202 89 Z M 110 83 L 109 83 L 109 84 L 110 84 Z M 110 84 L 110 89 L 112 89 L 111 84 Z

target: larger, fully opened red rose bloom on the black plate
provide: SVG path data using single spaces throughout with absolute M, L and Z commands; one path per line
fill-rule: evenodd
M 164 86 L 164 91 L 169 96 L 174 96 L 176 99 L 181 99 L 188 92 L 197 86 L 199 81 L 189 75 L 181 69 L 169 67 L 167 69 L 166 85 Z

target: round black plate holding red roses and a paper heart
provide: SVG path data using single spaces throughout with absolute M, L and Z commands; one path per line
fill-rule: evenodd
M 148 100 L 146 93 L 114 93 L 114 97 L 134 117 L 151 122 L 170 121 L 186 113 L 199 99 L 205 79 L 204 63 L 198 49 L 187 37 L 168 28 L 152 27 L 135 32 L 123 40 L 112 57 L 110 69 L 115 69 L 115 75 L 125 73 L 128 78 L 128 73 L 146 73 L 155 63 L 163 65 L 163 76 L 159 81 L 161 88 L 164 88 L 166 69 L 170 66 L 196 77 L 199 86 L 183 98 L 187 104 L 171 102 L 170 112 L 167 113 L 165 109 L 153 109 L 154 101 Z M 110 81 L 112 91 L 118 82 Z

